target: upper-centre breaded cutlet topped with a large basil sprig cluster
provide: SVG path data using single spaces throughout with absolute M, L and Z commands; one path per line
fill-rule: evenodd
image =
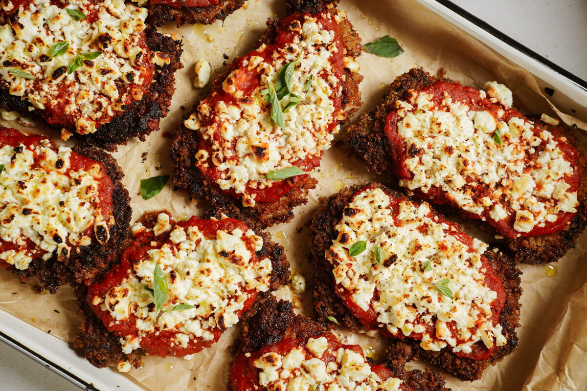
M 259 47 L 236 59 L 178 125 L 176 185 L 195 200 L 238 205 L 261 226 L 307 202 L 333 135 L 360 104 L 360 42 L 329 5 L 270 23 Z

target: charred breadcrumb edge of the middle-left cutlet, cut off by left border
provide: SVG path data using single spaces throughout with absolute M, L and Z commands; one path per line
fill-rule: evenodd
M 55 148 L 55 145 L 52 147 Z M 89 246 L 75 247 L 65 262 L 58 261 L 57 253 L 55 253 L 48 260 L 43 260 L 41 257 L 33 259 L 25 270 L 12 267 L 12 273 L 18 276 L 21 283 L 24 284 L 31 277 L 36 277 L 39 283 L 38 289 L 48 290 L 50 293 L 56 293 L 64 284 L 95 281 L 102 277 L 120 256 L 122 251 L 120 243 L 123 243 L 127 237 L 132 213 L 129 192 L 122 184 L 124 174 L 120 166 L 116 164 L 116 160 L 99 148 L 78 147 L 73 151 L 104 166 L 113 184 L 112 212 L 115 223 L 109 227 L 110 239 L 106 244 L 100 244 L 92 238 Z

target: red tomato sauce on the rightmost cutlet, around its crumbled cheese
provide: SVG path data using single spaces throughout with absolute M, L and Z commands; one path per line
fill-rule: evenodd
M 502 115 L 501 120 L 505 121 L 506 123 L 511 118 L 522 118 L 522 120 L 527 121 L 527 118 L 524 117 L 518 110 L 515 108 L 506 108 L 501 106 L 498 103 L 491 103 L 491 101 L 486 98 L 481 98 L 479 91 L 472 88 L 472 87 L 464 87 L 458 83 L 446 83 L 444 81 L 440 81 L 433 86 L 427 87 L 426 89 L 422 89 L 419 93 L 426 93 L 433 96 L 433 102 L 436 106 L 436 110 L 440 111 L 447 111 L 447 107 L 442 104 L 444 100 L 444 94 L 447 93 L 453 101 L 460 101 L 461 103 L 467 104 L 471 110 L 474 111 L 489 111 L 491 115 L 496 119 L 498 116 L 498 111 L 504 111 L 504 115 Z M 406 159 L 409 158 L 406 148 L 406 141 L 397 131 L 397 124 L 402 121 L 402 118 L 397 114 L 397 111 L 393 110 L 386 117 L 386 124 L 384 127 L 385 134 L 387 135 L 387 139 L 391 145 L 391 155 L 394 164 L 394 171 L 399 178 L 402 179 L 413 179 L 414 175 L 407 169 L 406 167 Z M 541 132 L 537 127 L 534 128 L 534 134 L 538 136 Z M 535 147 L 537 151 L 540 151 L 544 148 L 546 141 L 542 141 L 542 144 L 538 147 Z M 558 141 L 558 148 L 561 149 L 563 154 L 565 155 L 565 159 L 571 162 L 571 165 L 575 167 L 573 171 L 573 175 L 566 175 L 565 182 L 571 186 L 567 191 L 569 192 L 576 192 L 579 188 L 579 172 L 577 169 L 577 154 L 578 152 L 576 149 L 563 141 Z M 535 154 L 538 157 L 538 152 Z M 529 171 L 531 167 L 528 165 L 525 171 Z M 475 178 L 465 178 L 467 182 L 475 182 Z M 474 195 L 474 199 L 481 199 L 485 196 L 490 196 L 492 194 L 492 190 L 489 186 L 478 187 L 477 189 L 472 189 L 472 191 L 476 191 Z M 431 203 L 437 204 L 448 204 L 452 205 L 455 208 L 458 208 L 457 203 L 444 191 L 442 191 L 437 186 L 431 186 L 430 190 L 427 192 L 422 191 L 421 189 L 414 189 L 413 192 L 422 199 L 426 199 Z M 544 198 L 537 197 L 539 201 L 544 201 Z M 557 214 L 558 219 L 555 222 L 546 222 L 544 221 L 544 227 L 539 227 L 538 225 L 535 226 L 530 232 L 518 232 L 514 230 L 514 223 L 515 223 L 515 211 L 511 208 L 509 203 L 507 202 L 500 202 L 500 205 L 505 209 L 508 213 L 508 217 L 505 219 L 495 221 L 490 217 L 491 208 L 485 208 L 481 215 L 475 215 L 474 213 L 467 212 L 465 210 L 461 210 L 461 212 L 471 219 L 484 219 L 488 224 L 493 226 L 498 233 L 500 233 L 504 237 L 508 238 L 515 238 L 515 237 L 526 237 L 526 236 L 538 236 L 538 235 L 546 235 L 551 234 L 554 232 L 558 232 L 559 230 L 564 229 L 568 226 L 568 223 L 573 219 L 575 213 L 571 212 L 559 212 Z

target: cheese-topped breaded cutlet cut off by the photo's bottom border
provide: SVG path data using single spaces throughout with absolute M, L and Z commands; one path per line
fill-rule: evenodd
M 232 364 L 232 391 L 446 391 L 441 375 L 376 364 L 359 345 L 340 342 L 322 325 L 268 298 L 243 325 L 241 352 Z

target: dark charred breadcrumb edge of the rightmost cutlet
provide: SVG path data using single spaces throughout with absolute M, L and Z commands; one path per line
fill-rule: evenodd
M 396 100 L 405 100 L 409 97 L 409 90 L 421 90 L 432 86 L 438 81 L 458 83 L 458 81 L 431 76 L 421 68 L 411 69 L 393 81 L 389 87 L 389 93 L 383 97 L 378 106 L 360 115 L 357 123 L 348 128 L 346 146 L 351 154 L 365 164 L 367 170 L 377 174 L 382 174 L 383 172 L 393 173 L 390 145 L 383 131 L 385 118 L 393 110 Z M 575 137 L 561 125 L 548 125 L 540 121 L 539 118 L 528 118 L 534 121 L 537 127 L 548 130 L 557 136 L 564 136 L 569 144 L 578 147 Z M 504 251 L 511 254 L 515 261 L 527 264 L 554 262 L 561 259 L 568 250 L 575 247 L 579 235 L 587 225 L 587 159 L 581 151 L 578 154 L 578 168 L 579 190 L 577 199 L 579 207 L 571 224 L 559 232 L 548 235 L 500 240 Z M 430 202 L 433 202 L 433 200 L 430 200 Z M 457 210 L 453 206 L 446 206 L 446 208 L 442 209 L 452 213 Z M 460 214 L 465 220 L 473 222 L 486 232 L 493 235 L 498 234 L 494 227 L 487 223 L 470 219 L 464 216 L 463 213 Z

